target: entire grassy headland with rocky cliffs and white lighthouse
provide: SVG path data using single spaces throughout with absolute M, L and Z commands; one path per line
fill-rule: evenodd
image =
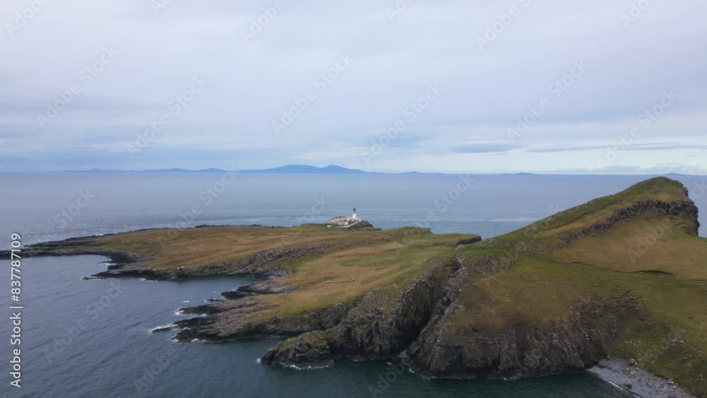
M 330 222 L 358 220 L 342 217 Z M 629 392 L 641 391 L 633 375 L 647 371 L 664 379 L 643 389 L 678 396 L 677 383 L 706 396 L 707 239 L 698 228 L 687 189 L 657 177 L 490 240 L 368 223 L 226 226 L 75 238 L 25 255 L 111 257 L 97 278 L 269 276 L 183 308 L 195 317 L 158 330 L 185 343 L 285 338 L 264 353 L 266 365 L 386 360 L 445 378 L 595 367 L 607 380 L 621 373 L 615 384 Z

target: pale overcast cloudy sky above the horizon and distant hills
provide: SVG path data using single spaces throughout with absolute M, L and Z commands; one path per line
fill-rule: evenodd
M 707 172 L 705 1 L 407 1 L 4 0 L 0 165 Z

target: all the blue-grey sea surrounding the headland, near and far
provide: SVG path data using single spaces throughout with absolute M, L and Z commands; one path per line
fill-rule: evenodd
M 209 224 L 292 226 L 323 222 L 356 206 L 382 228 L 419 225 L 488 238 L 550 213 L 618 192 L 633 176 L 0 174 L 0 247 L 10 235 L 43 242 L 140 228 Z M 697 193 L 701 177 L 679 177 Z M 225 183 L 224 181 L 232 181 Z M 455 191 L 464 189 L 464 192 Z M 457 195 L 457 192 L 459 194 Z M 707 208 L 707 194 L 694 195 Z M 320 211 L 320 209 L 324 209 Z M 195 211 L 198 210 L 198 211 Z M 703 222 L 704 224 L 704 222 Z M 704 228 L 701 235 L 704 235 Z M 183 319 L 247 278 L 149 282 L 83 280 L 105 269 L 98 256 L 23 264 L 22 385 L 10 387 L 11 316 L 0 333 L 6 397 L 622 397 L 588 373 L 528 380 L 428 380 L 386 363 L 268 368 L 276 343 L 177 344 L 155 327 Z M 0 261 L 7 269 L 8 261 Z M 1 276 L 9 296 L 8 272 Z

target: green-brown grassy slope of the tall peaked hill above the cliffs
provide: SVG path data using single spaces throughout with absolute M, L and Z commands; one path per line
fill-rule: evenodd
M 518 324 L 551 334 L 593 312 L 609 356 L 706 396 L 707 239 L 698 227 L 686 189 L 661 177 L 468 245 L 457 255 L 514 266 L 467 280 L 444 338 L 468 342 Z

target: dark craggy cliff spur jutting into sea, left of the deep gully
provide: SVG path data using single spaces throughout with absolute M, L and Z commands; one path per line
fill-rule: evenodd
M 469 277 L 486 278 L 512 265 L 506 257 L 447 258 L 407 288 L 368 293 L 334 329 L 284 341 L 262 361 L 318 366 L 335 358 L 395 357 L 421 344 L 428 330 L 457 310 L 456 298 Z

